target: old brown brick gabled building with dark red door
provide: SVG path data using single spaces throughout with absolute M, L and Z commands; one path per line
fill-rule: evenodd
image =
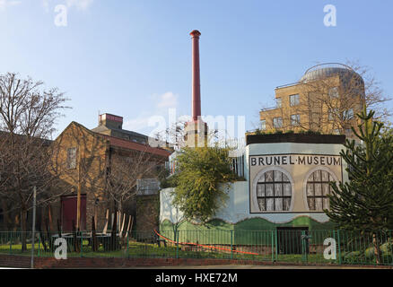
M 106 222 L 106 211 L 109 209 L 112 213 L 114 198 L 123 195 L 114 187 L 122 183 L 113 183 L 114 180 L 110 179 L 114 174 L 113 170 L 124 172 L 125 183 L 121 192 L 126 193 L 125 188 L 129 188 L 129 192 L 135 194 L 127 197 L 122 204 L 122 210 L 135 218 L 136 228 L 155 226 L 158 215 L 154 215 L 152 208 L 149 207 L 147 210 L 150 215 L 146 216 L 143 214 L 142 205 L 145 202 L 152 202 L 152 196 L 157 196 L 157 171 L 165 161 L 168 161 L 170 151 L 152 147 L 147 144 L 147 141 L 146 135 L 123 130 L 122 117 L 110 114 L 100 115 L 99 126 L 92 130 L 76 122 L 67 126 L 54 141 L 57 152 L 53 163 L 64 182 L 64 194 L 57 204 L 51 206 L 52 229 L 57 229 L 54 225 L 57 225 L 58 221 L 63 230 L 72 230 L 73 221 L 76 222 L 77 194 L 80 190 L 81 229 L 91 230 L 92 216 L 94 216 L 97 230 L 102 230 Z M 120 166 L 120 162 L 123 162 L 122 164 L 127 162 L 127 167 Z M 141 166 L 142 164 L 144 166 Z M 141 171 L 130 175 L 137 168 Z M 130 177 L 134 178 L 130 179 Z M 122 178 L 118 179 L 121 181 Z M 135 180 L 135 182 L 127 183 L 127 180 Z M 147 184 L 151 188 L 145 187 L 146 182 L 151 183 Z M 140 213 L 139 216 L 136 211 Z

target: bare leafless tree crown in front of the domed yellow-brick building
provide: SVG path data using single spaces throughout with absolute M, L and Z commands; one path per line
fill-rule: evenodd
M 319 73 L 315 77 L 302 79 L 296 85 L 299 103 L 292 107 L 277 105 L 272 110 L 275 117 L 283 118 L 279 128 L 266 121 L 267 130 L 312 130 L 322 134 L 352 135 L 351 126 L 360 124 L 356 114 L 363 106 L 376 111 L 375 117 L 387 121 L 392 113 L 384 107 L 391 100 L 380 88 L 380 83 L 371 74 L 371 69 L 357 62 L 348 61 L 337 73 Z M 268 112 L 269 109 L 263 109 Z M 296 115 L 301 120 L 296 121 Z

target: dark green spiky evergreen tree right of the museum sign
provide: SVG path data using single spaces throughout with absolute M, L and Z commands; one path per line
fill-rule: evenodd
M 373 121 L 364 109 L 359 133 L 362 144 L 346 141 L 340 155 L 348 164 L 350 180 L 332 183 L 327 216 L 339 228 L 371 234 L 377 263 L 380 262 L 380 231 L 393 228 L 393 136 L 381 136 L 383 124 Z M 385 134 L 384 134 L 385 135 Z

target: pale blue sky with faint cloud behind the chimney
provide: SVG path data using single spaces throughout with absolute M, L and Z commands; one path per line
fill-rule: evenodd
M 57 27 L 55 8 L 67 7 Z M 336 27 L 323 23 L 336 6 Z M 0 0 L 0 73 L 57 86 L 73 109 L 58 121 L 97 126 L 98 112 L 149 134 L 147 119 L 191 110 L 191 30 L 200 30 L 202 113 L 245 116 L 312 65 L 357 60 L 393 94 L 393 2 Z M 393 102 L 387 104 L 393 109 Z

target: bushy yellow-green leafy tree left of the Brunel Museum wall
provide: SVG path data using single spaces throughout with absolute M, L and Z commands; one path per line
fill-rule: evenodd
M 185 147 L 179 152 L 172 203 L 185 219 L 207 222 L 225 204 L 228 195 L 220 184 L 237 179 L 229 152 L 218 146 Z

